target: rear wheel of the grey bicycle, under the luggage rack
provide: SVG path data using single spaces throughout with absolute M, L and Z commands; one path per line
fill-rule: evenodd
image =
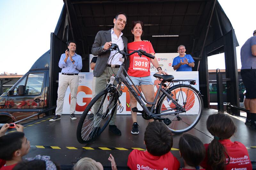
M 191 130 L 196 126 L 202 116 L 202 96 L 194 87 L 187 84 L 173 86 L 169 89 L 169 93 L 173 95 L 172 98 L 177 101 L 186 112 L 175 113 L 180 110 L 172 100 L 169 100 L 164 94 L 160 97 L 157 114 L 169 113 L 168 115 L 161 115 L 161 117 L 171 120 L 171 124 L 167 125 L 167 127 L 172 133 L 179 134 Z

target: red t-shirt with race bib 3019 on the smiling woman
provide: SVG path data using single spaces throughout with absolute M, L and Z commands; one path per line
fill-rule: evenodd
M 129 50 L 143 50 L 147 53 L 155 53 L 153 46 L 150 42 L 136 41 L 128 43 L 127 48 Z M 132 53 L 129 51 L 128 53 Z M 133 77 L 146 77 L 150 76 L 150 58 L 142 55 L 141 57 L 138 53 L 134 53 L 129 56 L 130 66 L 128 68 L 128 74 Z

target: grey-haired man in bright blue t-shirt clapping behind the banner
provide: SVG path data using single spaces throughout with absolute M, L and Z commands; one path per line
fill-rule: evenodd
M 195 66 L 195 61 L 192 56 L 185 54 L 186 48 L 183 45 L 178 47 L 179 56 L 175 57 L 172 62 L 172 67 L 177 71 L 192 71 L 192 67 Z

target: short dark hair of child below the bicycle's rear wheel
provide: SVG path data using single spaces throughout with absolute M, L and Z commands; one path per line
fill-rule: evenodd
M 144 141 L 147 151 L 154 156 L 162 156 L 172 148 L 172 132 L 162 122 L 148 124 Z

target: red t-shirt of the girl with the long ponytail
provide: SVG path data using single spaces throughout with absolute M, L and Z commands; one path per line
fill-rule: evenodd
M 246 147 L 240 143 L 240 142 L 232 142 L 229 139 L 219 140 L 219 142 L 224 146 L 226 149 L 226 152 L 228 153 L 228 156 L 230 157 L 229 164 L 226 165 L 226 170 L 231 170 L 232 168 L 245 168 L 246 170 L 252 169 L 251 160 L 249 158 L 248 151 Z M 206 156 L 203 162 L 200 164 L 202 167 L 204 167 L 206 170 L 212 169 L 210 165 L 207 165 L 207 150 L 208 150 L 209 144 L 204 144 L 205 150 L 206 150 Z M 226 163 L 228 163 L 228 156 L 226 156 Z

